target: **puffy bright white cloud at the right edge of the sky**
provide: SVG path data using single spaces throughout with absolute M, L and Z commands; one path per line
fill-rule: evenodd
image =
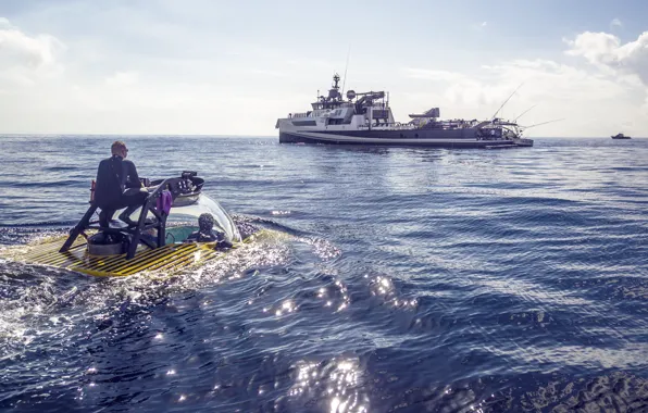
M 568 40 L 569 55 L 585 58 L 589 63 L 615 71 L 623 75 L 635 75 L 648 86 L 648 32 L 625 45 L 608 33 L 585 32 L 574 40 Z

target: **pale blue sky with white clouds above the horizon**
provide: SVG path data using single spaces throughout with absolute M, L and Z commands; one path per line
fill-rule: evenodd
M 331 87 L 397 121 L 648 137 L 648 1 L 1 0 L 0 134 L 276 136 Z M 346 73 L 346 76 L 345 76 Z

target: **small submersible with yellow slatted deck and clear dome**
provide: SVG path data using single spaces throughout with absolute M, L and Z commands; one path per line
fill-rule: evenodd
M 135 226 L 112 221 L 102 227 L 90 206 L 67 236 L 8 248 L 3 258 L 48 265 L 94 276 L 128 276 L 142 272 L 176 273 L 224 256 L 250 241 L 221 204 L 202 193 L 204 179 L 185 171 L 180 177 L 151 182 L 146 202 L 130 218 Z M 189 241 L 199 231 L 198 218 L 209 213 L 220 241 Z M 139 214 L 139 215 L 138 215 Z M 224 242 L 223 242 L 224 241 Z M 222 246 L 226 246 L 223 248 Z

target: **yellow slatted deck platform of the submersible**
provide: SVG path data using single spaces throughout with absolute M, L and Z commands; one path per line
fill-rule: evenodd
M 216 258 L 225 251 L 214 250 L 213 243 L 170 243 L 155 249 L 141 249 L 130 260 L 126 254 L 90 255 L 85 239 L 77 240 L 68 251 L 59 252 L 64 239 L 22 246 L 2 251 L 3 258 L 29 264 L 65 268 L 95 276 L 128 276 L 141 272 L 175 273 Z M 245 241 L 244 241 L 245 242 Z

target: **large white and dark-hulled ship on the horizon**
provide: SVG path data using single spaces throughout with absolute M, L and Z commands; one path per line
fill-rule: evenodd
M 439 120 L 439 109 L 411 114 L 411 121 L 394 120 L 388 93 L 349 90 L 339 92 L 339 76 L 333 77 L 328 96 L 320 96 L 312 110 L 278 118 L 282 143 L 386 145 L 437 148 L 533 147 L 523 139 L 523 127 L 494 117 L 489 121 Z

